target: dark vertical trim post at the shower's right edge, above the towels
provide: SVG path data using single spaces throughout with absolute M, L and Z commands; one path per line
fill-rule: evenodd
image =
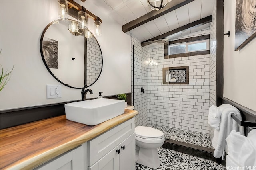
M 221 105 L 223 96 L 223 30 L 224 30 L 224 1 L 217 0 L 217 21 L 216 21 L 216 101 L 217 106 Z

